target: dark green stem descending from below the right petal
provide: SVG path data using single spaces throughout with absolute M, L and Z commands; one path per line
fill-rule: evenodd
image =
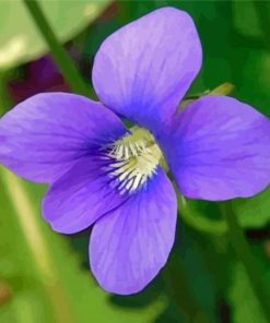
M 245 232 L 237 220 L 232 203 L 222 203 L 222 212 L 227 223 L 227 234 L 231 244 L 246 270 L 250 286 L 260 302 L 267 322 L 270 322 L 270 295 L 261 280 L 261 275 L 256 265 L 256 259 L 249 249 Z

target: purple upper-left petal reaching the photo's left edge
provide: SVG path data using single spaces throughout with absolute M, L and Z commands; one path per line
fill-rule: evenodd
M 0 162 L 26 179 L 52 182 L 125 132 L 121 121 L 99 103 L 74 94 L 39 94 L 1 118 Z

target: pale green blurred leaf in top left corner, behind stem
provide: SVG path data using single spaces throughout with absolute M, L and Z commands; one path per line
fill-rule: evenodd
M 70 40 L 95 20 L 111 0 L 45 1 L 42 8 L 61 41 Z M 0 70 L 48 51 L 22 1 L 0 1 Z

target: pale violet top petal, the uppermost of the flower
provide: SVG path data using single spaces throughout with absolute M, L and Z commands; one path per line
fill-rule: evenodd
M 115 112 L 150 130 L 164 123 L 201 67 L 192 19 L 162 8 L 128 24 L 101 46 L 93 84 Z

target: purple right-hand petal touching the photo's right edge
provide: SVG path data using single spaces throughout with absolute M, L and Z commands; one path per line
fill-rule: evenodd
M 232 97 L 192 103 L 160 143 L 188 198 L 247 198 L 270 183 L 270 120 Z

